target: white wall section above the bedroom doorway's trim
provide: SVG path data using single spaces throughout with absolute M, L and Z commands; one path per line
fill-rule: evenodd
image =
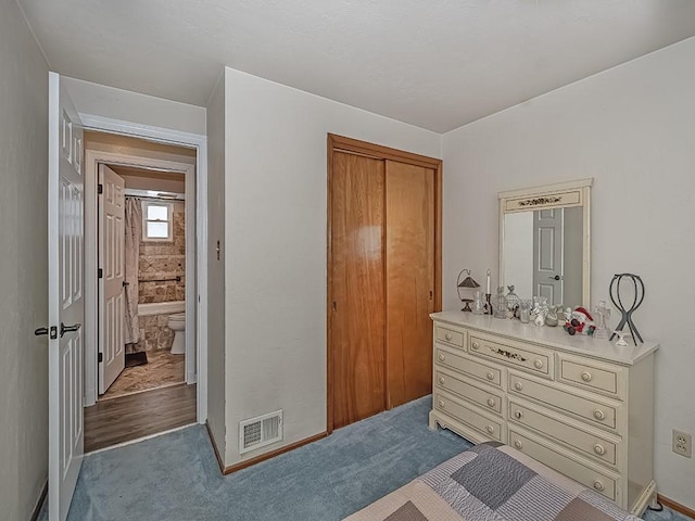
M 61 78 L 80 114 L 167 128 L 204 136 L 205 109 L 177 101 L 83 81 Z

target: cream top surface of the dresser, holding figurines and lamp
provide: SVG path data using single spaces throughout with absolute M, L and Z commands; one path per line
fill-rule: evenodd
M 493 334 L 501 334 L 515 340 L 542 344 L 580 356 L 601 358 L 622 365 L 632 366 L 659 348 L 657 342 L 637 343 L 631 338 L 629 345 L 619 346 L 608 340 L 597 340 L 586 334 L 570 336 L 560 326 L 551 328 L 521 323 L 519 320 L 493 318 L 490 315 L 473 315 L 464 312 L 441 312 L 430 315 L 432 320 L 453 326 L 476 329 Z

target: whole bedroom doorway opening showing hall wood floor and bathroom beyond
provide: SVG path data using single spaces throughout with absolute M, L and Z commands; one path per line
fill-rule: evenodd
M 89 452 L 195 422 L 197 150 L 93 131 L 85 150 Z

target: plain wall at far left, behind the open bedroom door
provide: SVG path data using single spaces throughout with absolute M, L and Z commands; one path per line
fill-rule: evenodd
M 0 2 L 0 518 L 29 519 L 48 476 L 48 66 Z

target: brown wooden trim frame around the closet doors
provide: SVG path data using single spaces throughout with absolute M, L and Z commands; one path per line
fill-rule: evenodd
M 442 174 L 443 162 L 435 157 L 415 154 L 390 147 L 369 143 L 344 136 L 328 134 L 328 192 L 327 192 L 327 300 L 326 300 L 326 431 L 333 432 L 333 346 L 332 346 L 332 176 L 333 176 L 333 154 L 336 152 L 357 154 L 376 160 L 391 160 L 408 165 L 432 168 L 434 170 L 434 312 L 442 309 Z

